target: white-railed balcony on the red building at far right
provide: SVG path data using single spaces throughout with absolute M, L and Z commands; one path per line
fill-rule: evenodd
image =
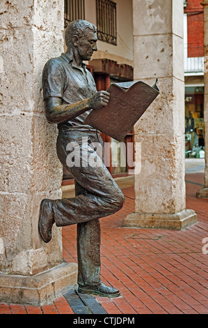
M 184 45 L 185 75 L 204 74 L 204 47 L 198 44 Z

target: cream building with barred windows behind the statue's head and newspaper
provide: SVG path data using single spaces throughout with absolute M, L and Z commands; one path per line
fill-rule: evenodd
M 65 27 L 77 19 L 97 26 L 98 50 L 86 64 L 98 91 L 108 89 L 113 82 L 134 79 L 132 11 L 132 0 L 65 0 Z M 130 174 L 134 162 L 133 129 L 122 140 L 122 147 L 118 147 L 117 140 L 104 133 L 101 135 L 104 142 L 111 145 L 105 159 L 113 177 Z M 70 178 L 70 173 L 63 168 L 64 183 Z

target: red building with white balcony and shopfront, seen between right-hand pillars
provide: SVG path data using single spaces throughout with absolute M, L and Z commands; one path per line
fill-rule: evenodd
M 184 1 L 186 158 L 205 158 L 204 22 L 200 0 Z

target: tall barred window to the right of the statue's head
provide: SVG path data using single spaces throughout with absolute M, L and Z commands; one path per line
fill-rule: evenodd
M 97 38 L 117 44 L 116 3 L 110 0 L 96 0 Z

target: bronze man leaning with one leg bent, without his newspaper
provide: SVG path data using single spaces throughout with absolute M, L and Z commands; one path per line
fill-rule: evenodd
M 58 124 L 57 154 L 74 177 L 75 197 L 42 200 L 38 228 L 48 243 L 54 223 L 58 227 L 77 223 L 78 292 L 117 297 L 119 290 L 99 278 L 99 218 L 121 209 L 125 198 L 93 147 L 95 143 L 103 147 L 99 131 L 84 124 L 91 110 L 109 103 L 109 93 L 97 92 L 83 64 L 97 51 L 95 25 L 85 20 L 72 22 L 65 31 L 65 43 L 67 51 L 47 61 L 42 82 L 46 117 L 49 123 Z M 73 162 L 70 154 L 79 154 L 79 161 Z

